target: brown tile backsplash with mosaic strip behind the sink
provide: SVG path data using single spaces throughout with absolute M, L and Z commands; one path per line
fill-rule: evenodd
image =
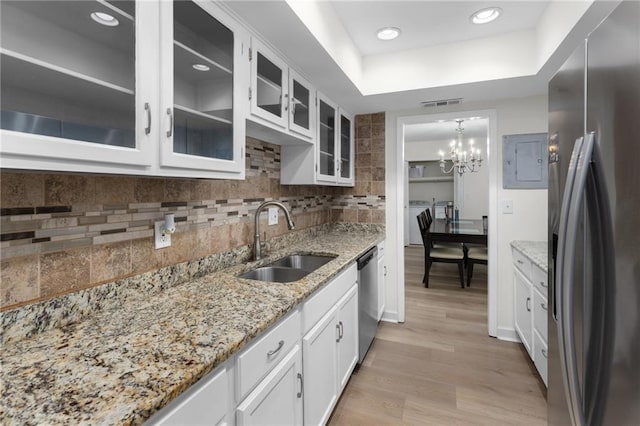
M 253 214 L 283 202 L 297 229 L 384 223 L 384 114 L 356 117 L 356 186 L 280 185 L 280 147 L 247 138 L 244 181 L 0 173 L 0 309 L 248 246 Z M 153 222 L 174 213 L 169 248 Z M 284 217 L 267 239 L 289 232 Z

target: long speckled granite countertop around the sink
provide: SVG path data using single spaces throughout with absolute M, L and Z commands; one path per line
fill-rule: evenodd
M 383 239 L 380 232 L 329 232 L 4 344 L 0 423 L 143 423 Z M 291 253 L 338 256 L 293 283 L 236 277 Z

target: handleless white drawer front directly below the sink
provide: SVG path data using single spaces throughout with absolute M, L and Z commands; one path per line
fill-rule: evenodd
M 324 288 L 305 302 L 303 313 L 303 333 L 306 334 L 331 309 L 358 280 L 356 264 L 349 266 Z

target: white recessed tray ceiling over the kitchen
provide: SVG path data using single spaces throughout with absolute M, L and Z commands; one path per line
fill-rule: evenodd
M 316 88 L 353 114 L 404 110 L 428 100 L 544 95 L 565 58 L 613 1 L 223 1 Z M 469 15 L 504 14 L 483 27 Z M 382 26 L 400 39 L 374 39 Z M 471 37 L 471 38 L 469 38 Z M 430 113 L 441 110 L 430 109 Z

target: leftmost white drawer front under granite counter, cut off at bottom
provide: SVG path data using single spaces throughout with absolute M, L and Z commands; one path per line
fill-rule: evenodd
M 229 379 L 222 368 L 200 379 L 171 404 L 166 406 L 149 424 L 152 425 L 217 425 L 227 414 Z

